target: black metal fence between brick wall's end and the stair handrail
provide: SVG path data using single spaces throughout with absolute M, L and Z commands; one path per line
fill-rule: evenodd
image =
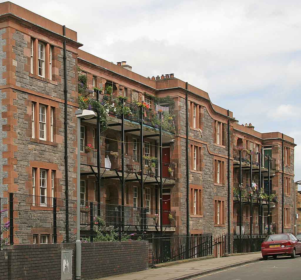
M 212 233 L 175 234 L 172 236 L 148 236 L 149 263 L 185 260 L 212 255 Z

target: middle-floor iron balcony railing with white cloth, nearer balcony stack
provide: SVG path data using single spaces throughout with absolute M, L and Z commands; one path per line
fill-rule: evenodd
M 81 152 L 81 164 L 97 167 L 97 149 L 91 148 Z M 175 163 L 162 163 L 162 177 L 175 178 Z M 100 167 L 117 171 L 122 171 L 121 150 L 108 151 L 100 149 Z M 140 157 L 137 154 L 126 153 L 124 155 L 124 171 L 140 173 Z M 143 159 L 143 174 L 151 177 L 160 176 L 160 162 L 156 159 Z

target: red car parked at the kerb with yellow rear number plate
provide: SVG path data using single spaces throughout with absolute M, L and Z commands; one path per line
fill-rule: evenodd
M 270 235 L 261 244 L 261 254 L 264 260 L 268 257 L 276 259 L 277 256 L 291 256 L 294 259 L 296 255 L 301 256 L 301 239 L 291 233 Z

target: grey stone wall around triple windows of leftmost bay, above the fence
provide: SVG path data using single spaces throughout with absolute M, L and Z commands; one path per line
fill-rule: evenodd
M 57 49 L 54 52 L 56 59 L 55 65 L 59 67 L 59 77 L 56 77 L 57 85 L 51 84 L 48 81 L 42 81 L 38 78 L 30 77 L 29 72 L 24 70 L 24 65 L 28 64 L 28 57 L 24 54 L 24 48 L 30 46 L 30 42 L 24 39 L 25 35 L 19 31 L 13 34 L 13 39 L 16 41 L 13 46 L 13 52 L 15 54 L 15 60 L 17 61 L 16 67 L 16 85 L 25 89 L 33 90 L 45 96 L 51 96 L 51 99 L 63 99 L 64 100 L 64 64 L 63 64 L 63 50 Z M 28 37 L 28 36 L 27 36 Z M 27 38 L 26 37 L 26 38 Z M 67 86 L 68 86 L 68 101 L 74 102 L 75 97 L 72 91 L 76 90 L 77 84 L 74 83 L 76 77 L 76 59 L 72 53 L 67 52 Z M 46 66 L 47 67 L 47 66 Z M 18 178 L 15 179 L 15 184 L 22 192 L 28 192 L 26 189 L 26 182 L 29 181 L 28 168 L 30 161 L 41 161 L 45 163 L 54 163 L 58 165 L 58 171 L 61 172 L 58 185 L 61 188 L 61 194 L 58 197 L 64 197 L 65 191 L 65 163 L 64 163 L 64 103 L 58 102 L 58 108 L 56 108 L 55 119 L 55 134 L 58 138 L 63 139 L 54 142 L 54 145 L 48 145 L 45 143 L 36 143 L 30 141 L 31 134 L 28 133 L 30 129 L 30 98 L 29 93 L 15 90 L 17 92 L 17 100 L 14 100 L 14 105 L 17 106 L 17 139 L 14 144 L 18 146 L 18 151 L 14 156 L 17 158 L 17 165 L 14 166 L 14 171 L 18 172 Z M 44 104 L 48 104 L 49 99 L 43 100 Z M 74 117 L 73 117 L 74 116 Z M 69 197 L 72 199 L 75 195 L 75 145 L 76 129 L 74 108 L 68 105 L 68 170 L 69 170 Z

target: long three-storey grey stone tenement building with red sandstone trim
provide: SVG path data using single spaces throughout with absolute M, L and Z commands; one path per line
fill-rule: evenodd
M 293 138 L 239 124 L 174 74 L 87 53 L 75 31 L 20 6 L 0 11 L 0 196 L 51 211 L 80 180 L 83 231 L 97 215 L 124 231 L 293 232 Z M 78 109 L 95 112 L 80 131 Z

